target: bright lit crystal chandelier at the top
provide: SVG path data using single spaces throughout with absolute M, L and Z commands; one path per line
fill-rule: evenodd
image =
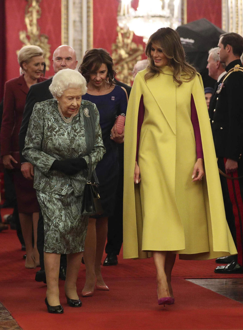
M 175 30 L 181 25 L 181 0 L 139 0 L 137 10 L 132 8 L 131 0 L 121 0 L 117 21 L 121 28 L 134 31 L 146 43 L 159 28 Z

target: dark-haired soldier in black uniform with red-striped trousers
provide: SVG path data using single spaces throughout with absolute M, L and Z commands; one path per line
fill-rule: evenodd
M 243 176 L 243 67 L 240 61 L 243 38 L 234 32 L 225 33 L 220 36 L 218 47 L 220 62 L 226 64 L 227 74 L 218 85 L 215 107 L 210 111 L 215 151 L 222 172 L 230 179 L 240 178 Z M 229 205 L 226 212 L 231 212 L 231 218 L 228 216 L 227 220 L 235 243 L 237 236 L 238 260 L 234 258 L 228 265 L 218 266 L 215 272 L 243 273 L 243 179 L 228 180 L 228 186 L 224 184 L 222 189 L 224 199 L 231 195 L 233 206 Z M 238 195 L 237 189 L 240 191 Z M 235 226 L 232 223 L 234 207 L 238 211 Z

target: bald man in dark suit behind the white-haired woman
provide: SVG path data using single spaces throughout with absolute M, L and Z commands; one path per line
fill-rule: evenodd
M 68 69 L 68 68 L 74 70 L 77 66 L 76 52 L 72 47 L 68 45 L 59 46 L 53 52 L 52 62 L 55 73 L 57 73 L 59 70 Z M 51 92 L 49 91 L 49 86 L 51 82 L 52 82 L 52 78 L 44 82 L 40 82 L 35 85 L 32 85 L 26 97 L 22 124 L 19 131 L 19 154 L 20 154 L 20 162 L 21 162 L 21 172 L 23 176 L 29 180 L 33 180 L 34 167 L 22 155 L 22 150 L 24 149 L 25 136 L 34 105 L 37 102 L 42 102 L 53 98 Z M 38 282 L 39 281 L 46 282 L 46 274 L 44 270 L 44 223 L 41 212 L 39 215 L 38 228 L 37 228 L 37 248 L 40 254 L 41 269 L 36 273 L 35 279 Z M 62 254 L 60 259 L 60 278 L 62 280 L 65 280 L 66 278 L 66 267 L 67 267 L 66 255 Z

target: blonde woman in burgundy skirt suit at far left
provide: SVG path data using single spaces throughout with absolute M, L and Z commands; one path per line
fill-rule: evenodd
M 1 126 L 1 157 L 6 169 L 12 170 L 15 185 L 19 220 L 26 246 L 26 268 L 39 266 L 37 250 L 37 223 L 39 204 L 33 181 L 25 179 L 20 171 L 18 133 L 22 121 L 26 95 L 30 86 L 43 82 L 43 50 L 38 46 L 24 46 L 18 52 L 18 63 L 24 74 L 6 82 Z M 34 175 L 34 173 L 33 173 Z M 34 248 L 32 247 L 32 223 L 34 231 Z

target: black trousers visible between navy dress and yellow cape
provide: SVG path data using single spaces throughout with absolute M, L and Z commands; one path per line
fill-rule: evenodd
M 116 190 L 115 208 L 112 216 L 108 217 L 107 254 L 119 254 L 123 242 L 123 160 L 124 146 L 118 145 L 119 152 L 119 179 Z

